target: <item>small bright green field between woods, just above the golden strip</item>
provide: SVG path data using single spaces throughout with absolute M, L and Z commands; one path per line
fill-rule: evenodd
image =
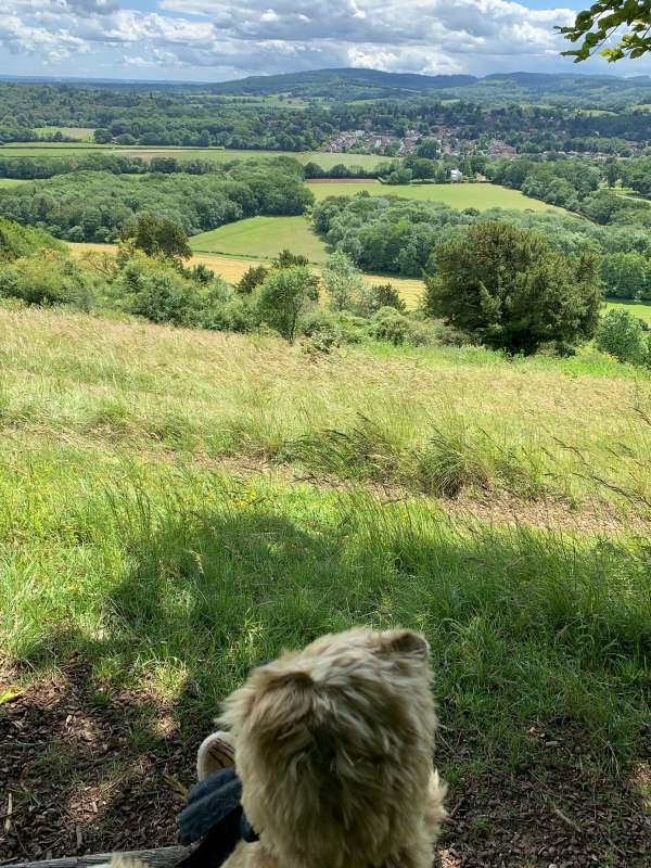
M 260 258 L 272 258 L 288 247 L 312 263 L 328 258 L 326 244 L 311 231 L 306 217 L 250 217 L 194 235 L 190 246 L 197 253 Z

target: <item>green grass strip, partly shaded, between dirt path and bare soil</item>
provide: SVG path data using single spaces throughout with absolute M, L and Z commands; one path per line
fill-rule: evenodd
M 445 725 L 472 732 L 473 763 L 516 764 L 533 726 L 579 730 L 597 760 L 640 750 L 643 542 L 59 449 L 14 459 L 0 641 L 37 671 L 81 655 L 103 685 L 153 685 L 207 720 L 283 647 L 403 624 L 430 639 Z

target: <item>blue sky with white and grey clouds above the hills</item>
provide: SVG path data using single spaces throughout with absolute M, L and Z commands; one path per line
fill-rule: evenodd
M 591 0 L 2 0 L 0 74 L 224 81 L 363 66 L 640 75 L 573 65 L 553 30 Z

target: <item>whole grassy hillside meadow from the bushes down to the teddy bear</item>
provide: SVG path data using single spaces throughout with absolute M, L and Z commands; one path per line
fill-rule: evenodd
M 648 378 L 477 348 L 314 361 L 38 309 L 0 308 L 0 335 L 2 688 L 82 667 L 87 714 L 122 703 L 129 768 L 93 766 L 117 802 L 162 733 L 199 743 L 252 665 L 401 624 L 432 646 L 437 763 L 468 817 L 447 840 L 467 864 L 487 821 L 511 847 L 525 804 L 542 848 L 575 835 L 552 807 L 583 826 L 598 805 L 609 821 L 579 844 L 642 868 L 627 830 L 649 758 Z M 94 792 L 52 749 L 49 775 L 80 788 L 68 802 Z M 178 763 L 148 766 L 158 792 L 190 779 Z

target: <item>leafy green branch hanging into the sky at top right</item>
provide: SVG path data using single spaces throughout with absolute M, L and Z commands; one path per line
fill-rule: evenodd
M 574 58 L 575 63 L 597 53 L 611 63 L 623 58 L 641 58 L 651 51 L 651 2 L 605 0 L 593 3 L 578 13 L 572 26 L 557 29 L 571 42 L 580 43 L 576 49 L 562 52 Z

